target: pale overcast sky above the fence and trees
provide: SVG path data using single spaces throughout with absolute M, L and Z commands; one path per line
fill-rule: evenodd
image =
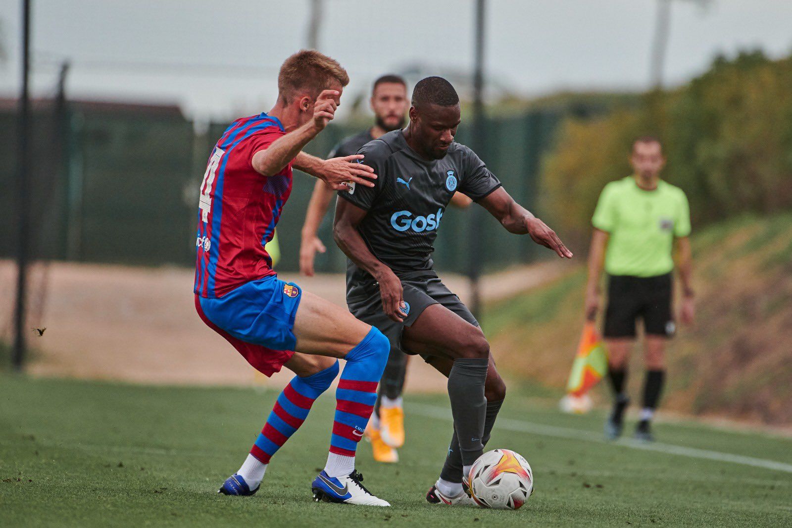
M 352 92 L 421 63 L 469 71 L 473 0 L 325 0 L 320 48 Z M 19 84 L 20 0 L 0 0 L 0 95 Z M 33 0 L 37 94 L 73 64 L 73 98 L 168 101 L 228 117 L 272 105 L 277 68 L 306 44 L 309 0 Z M 489 0 L 487 74 L 520 94 L 643 89 L 656 0 Z M 790 0 L 674 0 L 665 78 L 684 82 L 719 52 L 792 51 Z

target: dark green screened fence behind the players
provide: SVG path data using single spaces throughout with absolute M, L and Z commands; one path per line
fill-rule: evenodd
M 505 188 L 529 209 L 538 207 L 538 174 L 562 109 L 532 110 L 486 121 L 482 159 Z M 13 189 L 15 137 L 13 106 L 0 111 L 0 186 Z M 178 109 L 163 106 L 73 102 L 36 105 L 34 113 L 32 236 L 34 259 L 192 266 L 195 209 L 204 165 L 226 123 L 203 132 Z M 360 131 L 333 124 L 307 151 L 324 156 L 334 143 Z M 470 138 L 465 121 L 458 140 Z M 296 270 L 300 229 L 314 179 L 295 174 L 294 190 L 278 225 L 280 270 Z M 13 193 L 0 193 L 0 256 L 13 255 Z M 332 243 L 331 215 L 320 236 L 328 247 L 319 271 L 341 271 L 344 256 Z M 442 270 L 466 270 L 470 212 L 449 208 L 437 239 Z M 485 270 L 526 262 L 534 244 L 484 220 Z

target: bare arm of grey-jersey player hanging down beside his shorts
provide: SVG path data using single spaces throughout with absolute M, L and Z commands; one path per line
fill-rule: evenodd
M 352 262 L 379 282 L 379 295 L 382 297 L 385 313 L 390 319 L 402 323 L 406 317 L 401 309 L 404 304 L 402 281 L 396 277 L 393 270 L 371 253 L 363 237 L 360 236 L 360 231 L 357 230 L 366 214 L 365 209 L 360 209 L 344 198 L 338 198 L 336 217 L 333 221 L 333 239 Z

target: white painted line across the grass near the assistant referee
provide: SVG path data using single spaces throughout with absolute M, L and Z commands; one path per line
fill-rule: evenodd
M 414 412 L 427 418 L 443 419 L 448 422 L 453 421 L 453 418 L 451 418 L 451 410 L 444 407 L 425 404 L 408 404 L 406 410 L 408 413 Z M 615 446 L 630 447 L 634 450 L 657 451 L 658 453 L 674 454 L 680 457 L 732 462 L 733 464 L 750 465 L 754 468 L 772 469 L 774 471 L 792 473 L 792 464 L 785 464 L 784 462 L 767 460 L 764 458 L 744 457 L 743 455 L 722 453 L 720 451 L 701 450 L 695 447 L 673 446 L 672 444 L 664 444 L 661 442 L 644 443 L 630 438 L 622 438 L 618 442 L 607 442 L 604 438 L 601 438 L 600 434 L 594 431 L 572 429 L 571 427 L 549 426 L 542 423 L 525 422 L 523 420 L 509 418 L 498 418 L 496 427 L 498 429 L 511 430 L 516 433 L 541 434 L 554 438 L 570 438 L 572 440 L 582 440 L 584 442 L 613 444 Z

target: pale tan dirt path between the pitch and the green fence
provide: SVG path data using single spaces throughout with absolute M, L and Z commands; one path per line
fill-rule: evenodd
M 510 297 L 558 277 L 564 266 L 546 262 L 484 277 L 485 301 Z M 0 324 L 11 320 L 13 263 L 0 261 Z M 345 306 L 341 274 L 281 274 L 303 288 Z M 464 277 L 444 274 L 448 287 L 468 299 Z M 34 281 L 35 281 L 34 276 Z M 185 385 L 285 385 L 256 373 L 196 315 L 192 270 L 52 263 L 44 314 L 30 327 L 47 327 L 29 344 L 38 350 L 29 372 L 37 376 Z M 31 319 L 35 319 L 35 314 Z M 442 390 L 440 374 L 420 358 L 410 362 L 407 390 Z

